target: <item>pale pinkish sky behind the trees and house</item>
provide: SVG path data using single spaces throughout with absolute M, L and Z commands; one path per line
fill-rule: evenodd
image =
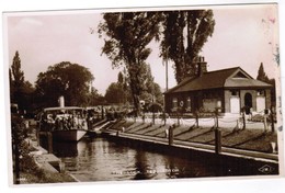
M 214 34 L 205 43 L 202 56 L 208 70 L 240 66 L 256 78 L 261 63 L 270 78 L 278 76 L 274 53 L 278 45 L 278 19 L 275 5 L 215 5 Z M 187 9 L 184 7 L 183 9 Z M 191 9 L 191 8 L 189 8 Z M 93 86 L 104 94 L 111 82 L 117 81 L 121 69 L 113 69 L 111 60 L 101 54 L 104 44 L 96 32 L 102 21 L 99 10 L 14 12 L 7 19 L 9 65 L 19 50 L 22 70 L 31 83 L 37 75 L 60 61 L 82 65 L 93 73 Z M 91 30 L 92 31 L 91 33 Z M 151 43 L 150 64 L 155 81 L 166 88 L 166 67 L 159 58 L 159 45 Z M 176 81 L 169 61 L 169 88 Z

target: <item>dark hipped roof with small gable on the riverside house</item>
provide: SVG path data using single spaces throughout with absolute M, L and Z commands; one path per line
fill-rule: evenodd
M 204 72 L 190 77 L 164 93 L 186 92 L 218 88 L 270 88 L 269 83 L 253 79 L 240 67 Z

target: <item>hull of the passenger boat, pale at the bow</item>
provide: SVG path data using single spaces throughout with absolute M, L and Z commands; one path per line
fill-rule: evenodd
M 78 141 L 84 135 L 87 130 L 70 129 L 70 130 L 54 130 L 53 138 L 59 141 Z

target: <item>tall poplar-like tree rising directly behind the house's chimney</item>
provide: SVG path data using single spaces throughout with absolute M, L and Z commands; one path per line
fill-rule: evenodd
M 166 11 L 163 15 L 161 56 L 174 61 L 179 83 L 185 77 L 195 75 L 194 61 L 214 32 L 214 14 L 212 10 L 191 10 Z

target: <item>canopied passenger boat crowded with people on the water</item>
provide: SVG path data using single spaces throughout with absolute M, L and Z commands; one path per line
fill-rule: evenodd
M 88 130 L 87 115 L 83 107 L 46 107 L 39 118 L 39 132 L 50 132 L 53 139 L 78 141 Z

